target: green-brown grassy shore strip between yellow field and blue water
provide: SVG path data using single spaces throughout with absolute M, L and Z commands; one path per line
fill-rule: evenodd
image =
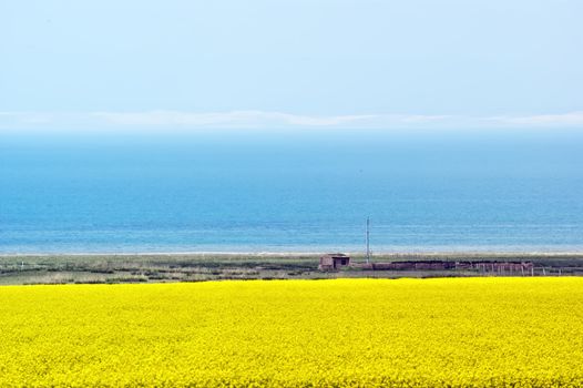
M 403 270 L 379 266 L 365 270 L 362 252 L 345 252 L 354 266 L 320 270 L 320 252 L 161 252 L 1 254 L 0 285 L 206 282 L 226 279 L 323 279 L 338 277 L 484 276 L 475 269 L 431 267 Z M 375 253 L 370 263 L 530 262 L 536 276 L 583 276 L 583 252 L 430 252 Z M 400 268 L 400 267 L 399 267 Z M 449 267 L 448 267 L 449 268 Z M 457 266 L 456 266 L 457 268 Z M 514 273 L 513 275 L 528 275 Z M 495 274 L 504 275 L 504 274 Z M 509 274 L 505 274 L 509 275 Z

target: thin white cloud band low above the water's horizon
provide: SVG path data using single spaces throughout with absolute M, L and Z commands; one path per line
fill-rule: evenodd
M 583 111 L 563 114 L 463 116 L 425 114 L 300 115 L 284 112 L 0 112 L 0 130 L 209 130 L 209 129 L 507 129 L 583 130 Z

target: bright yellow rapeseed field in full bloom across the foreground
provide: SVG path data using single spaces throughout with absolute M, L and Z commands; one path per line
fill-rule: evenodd
M 0 387 L 583 386 L 583 278 L 0 287 Z

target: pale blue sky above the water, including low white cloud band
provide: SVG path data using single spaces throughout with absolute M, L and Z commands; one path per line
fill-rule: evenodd
M 583 127 L 579 0 L 0 2 L 0 127 Z

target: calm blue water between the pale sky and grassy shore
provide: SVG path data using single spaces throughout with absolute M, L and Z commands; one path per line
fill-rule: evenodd
M 0 254 L 583 251 L 576 131 L 0 134 Z

